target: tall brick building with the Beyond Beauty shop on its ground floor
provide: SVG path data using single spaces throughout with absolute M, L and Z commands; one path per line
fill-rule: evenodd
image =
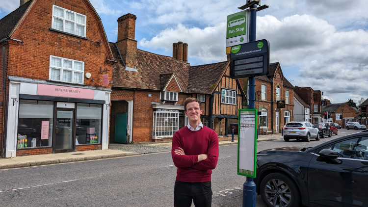
M 107 149 L 114 60 L 91 3 L 21 0 L 0 28 L 1 156 Z

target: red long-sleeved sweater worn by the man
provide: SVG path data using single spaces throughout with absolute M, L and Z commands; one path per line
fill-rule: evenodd
M 184 149 L 185 155 L 176 155 L 174 151 Z M 198 155 L 207 154 L 208 158 L 198 162 Z M 186 126 L 174 133 L 171 156 L 178 168 L 176 180 L 184 182 L 211 181 L 212 169 L 218 160 L 218 136 L 206 126 L 192 131 Z

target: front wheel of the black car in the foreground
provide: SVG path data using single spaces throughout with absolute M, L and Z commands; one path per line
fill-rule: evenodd
M 265 176 L 260 186 L 263 203 L 267 207 L 300 206 L 299 191 L 289 177 L 281 173 Z

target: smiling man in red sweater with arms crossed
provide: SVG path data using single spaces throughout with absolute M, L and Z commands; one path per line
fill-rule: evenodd
M 218 136 L 201 122 L 201 101 L 187 98 L 184 113 L 188 125 L 174 133 L 171 156 L 178 168 L 174 207 L 210 207 L 211 174 L 218 160 Z

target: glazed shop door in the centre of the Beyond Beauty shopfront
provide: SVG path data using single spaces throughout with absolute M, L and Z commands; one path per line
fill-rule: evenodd
M 54 136 L 54 152 L 73 152 L 74 110 L 57 110 Z

